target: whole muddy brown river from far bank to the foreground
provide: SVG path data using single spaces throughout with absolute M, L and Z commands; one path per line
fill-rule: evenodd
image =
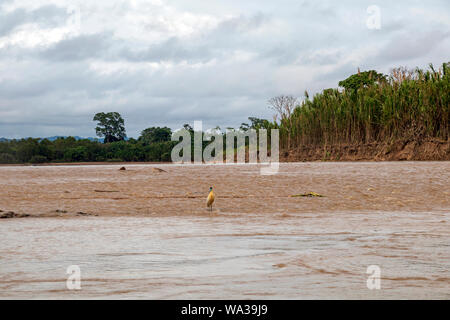
M 0 299 L 450 298 L 449 162 L 119 167 L 0 167 Z

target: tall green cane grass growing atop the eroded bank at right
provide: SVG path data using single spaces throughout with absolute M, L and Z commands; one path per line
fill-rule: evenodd
M 307 96 L 307 94 L 306 94 Z M 450 64 L 394 69 L 385 81 L 326 89 L 280 121 L 283 148 L 403 138 L 449 139 Z

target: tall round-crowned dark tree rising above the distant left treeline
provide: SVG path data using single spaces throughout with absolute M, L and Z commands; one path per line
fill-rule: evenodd
M 97 113 L 94 121 L 98 121 L 95 132 L 97 136 L 104 137 L 104 143 L 123 141 L 127 137 L 124 120 L 118 112 Z

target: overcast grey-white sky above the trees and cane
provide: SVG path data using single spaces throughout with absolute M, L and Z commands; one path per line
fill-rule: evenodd
M 0 0 L 0 137 L 95 136 L 107 111 L 134 137 L 271 119 L 270 97 L 358 67 L 449 61 L 449 14 L 448 0 Z

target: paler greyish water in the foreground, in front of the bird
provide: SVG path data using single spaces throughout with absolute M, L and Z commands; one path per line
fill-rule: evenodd
M 10 219 L 0 298 L 450 298 L 448 212 Z M 81 268 L 80 291 L 66 269 Z M 366 269 L 381 268 L 381 290 Z

